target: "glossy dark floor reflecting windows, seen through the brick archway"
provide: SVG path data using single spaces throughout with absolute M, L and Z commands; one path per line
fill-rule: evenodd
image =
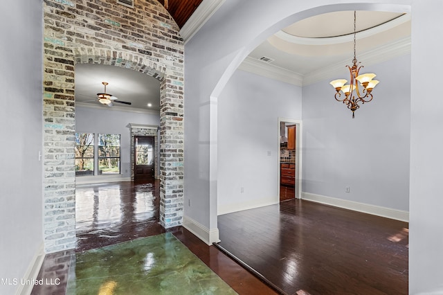
M 77 249 L 104 247 L 165 232 L 159 225 L 159 181 L 77 186 Z

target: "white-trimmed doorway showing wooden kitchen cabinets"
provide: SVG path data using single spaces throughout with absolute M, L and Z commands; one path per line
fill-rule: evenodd
M 278 196 L 279 201 L 301 199 L 302 122 L 278 118 Z

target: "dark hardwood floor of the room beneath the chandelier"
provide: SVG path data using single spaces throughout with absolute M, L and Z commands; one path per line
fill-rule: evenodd
M 220 215 L 219 246 L 285 294 L 408 294 L 408 223 L 291 199 Z

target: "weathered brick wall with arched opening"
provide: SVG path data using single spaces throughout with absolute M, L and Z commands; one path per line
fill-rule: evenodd
M 183 40 L 155 0 L 44 0 L 44 242 L 75 247 L 75 64 L 121 66 L 161 81 L 161 224 L 183 218 Z M 129 123 L 129 122 L 128 122 Z

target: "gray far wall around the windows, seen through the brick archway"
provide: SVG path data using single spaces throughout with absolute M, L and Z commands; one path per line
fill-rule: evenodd
M 159 114 L 115 111 L 111 108 L 75 107 L 75 132 L 120 134 L 120 174 L 131 177 L 131 128 L 129 123 L 160 125 Z M 159 148 L 156 148 L 159 152 Z M 97 174 L 97 173 L 96 173 Z

